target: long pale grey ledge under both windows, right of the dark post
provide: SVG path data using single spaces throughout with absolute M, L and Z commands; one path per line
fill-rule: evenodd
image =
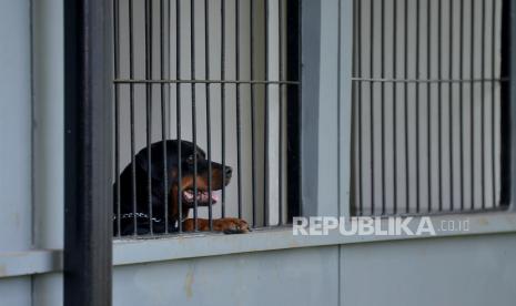
M 414 226 L 409 227 L 414 232 L 417 228 L 418 218 L 419 217 L 414 217 L 414 222 L 411 223 L 411 225 Z M 269 230 L 257 230 L 250 234 L 242 235 L 185 234 L 180 236 L 166 236 L 151 239 L 118 239 L 113 242 L 113 264 L 130 265 L 148 262 L 162 262 L 180 258 L 216 256 L 296 247 L 516 232 L 516 213 L 513 212 L 436 215 L 431 216 L 431 220 L 434 226 L 439 224 L 442 221 L 463 222 L 468 220 L 469 231 L 448 232 L 438 231 L 438 228 L 436 228 L 435 236 L 344 236 L 341 235 L 337 231 L 333 231 L 326 236 L 294 236 L 291 227 L 276 227 Z

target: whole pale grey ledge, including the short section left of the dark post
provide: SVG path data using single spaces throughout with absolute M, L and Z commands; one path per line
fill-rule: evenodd
M 416 222 L 411 224 L 417 225 L 417 218 L 414 217 Z M 290 227 L 275 227 L 256 230 L 244 235 L 184 234 L 148 239 L 117 239 L 113 242 L 113 265 L 311 246 L 516 233 L 514 212 L 436 215 L 431 216 L 431 220 L 434 224 L 468 220 L 469 231 L 436 231 L 435 236 L 343 236 L 337 232 L 331 232 L 327 236 L 294 236 Z M 62 249 L 0 252 L 0 278 L 60 272 L 62 267 Z

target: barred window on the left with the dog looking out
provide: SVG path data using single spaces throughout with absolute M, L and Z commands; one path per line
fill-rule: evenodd
M 297 2 L 113 0 L 117 236 L 182 233 L 185 218 L 194 231 L 202 218 L 210 230 L 223 217 L 253 228 L 290 223 Z

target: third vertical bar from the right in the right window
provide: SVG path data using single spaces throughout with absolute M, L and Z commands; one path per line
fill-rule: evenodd
M 475 0 L 472 0 L 472 10 L 471 10 L 471 53 L 469 53 L 469 61 L 471 61 L 471 70 L 469 74 L 471 78 L 475 78 Z M 469 85 L 471 91 L 471 106 L 469 106 L 469 139 L 471 139 L 471 146 L 469 150 L 472 151 L 472 160 L 471 160 L 471 167 L 472 167 L 472 176 L 471 176 L 471 184 L 472 184 L 472 210 L 475 208 L 475 137 L 474 137 L 474 124 L 473 121 L 475 119 L 475 86 L 474 83 Z

